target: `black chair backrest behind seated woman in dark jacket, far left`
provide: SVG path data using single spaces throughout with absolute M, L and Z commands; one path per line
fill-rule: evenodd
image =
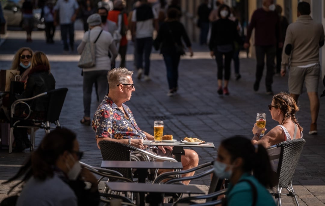
M 59 88 L 47 91 L 49 102 L 47 106 L 46 121 L 54 123 L 59 120 L 67 92 L 68 88 Z

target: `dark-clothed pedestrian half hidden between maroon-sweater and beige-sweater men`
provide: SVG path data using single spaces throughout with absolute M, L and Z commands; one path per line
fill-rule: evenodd
M 280 19 L 280 29 L 282 34 L 282 39 L 285 39 L 285 34 L 287 32 L 287 28 L 289 25 L 288 19 L 285 16 L 282 16 L 282 7 L 280 5 L 275 6 L 275 10 L 279 15 Z M 279 40 L 277 39 L 277 44 L 279 44 Z M 282 48 L 277 47 L 277 69 L 276 74 L 279 75 L 281 71 L 281 60 L 282 60 Z

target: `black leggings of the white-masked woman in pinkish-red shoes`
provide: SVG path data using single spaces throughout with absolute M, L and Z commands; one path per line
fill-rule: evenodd
M 230 79 L 230 63 L 233 58 L 233 51 L 230 52 L 219 52 L 217 50 L 214 51 L 215 61 L 217 62 L 217 77 L 218 79 L 223 79 L 223 70 L 225 68 L 225 80 Z M 225 56 L 225 65 L 223 65 L 223 56 Z

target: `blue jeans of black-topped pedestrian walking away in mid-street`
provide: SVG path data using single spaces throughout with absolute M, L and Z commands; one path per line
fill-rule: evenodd
M 178 64 L 180 56 L 172 53 L 163 53 L 163 60 L 167 70 L 167 81 L 169 89 L 177 87 L 178 80 Z

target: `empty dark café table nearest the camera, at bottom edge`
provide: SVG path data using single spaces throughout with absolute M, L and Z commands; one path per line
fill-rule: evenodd
M 146 184 L 146 183 L 131 183 L 131 182 L 106 182 L 107 187 L 114 191 L 121 192 L 141 192 L 149 193 L 147 201 L 150 206 L 159 205 L 163 200 L 164 193 L 187 193 L 187 194 L 205 194 L 201 189 L 194 185 L 177 185 L 177 184 Z M 141 197 L 141 196 L 140 196 Z M 140 205 L 143 206 L 144 200 L 140 200 Z

